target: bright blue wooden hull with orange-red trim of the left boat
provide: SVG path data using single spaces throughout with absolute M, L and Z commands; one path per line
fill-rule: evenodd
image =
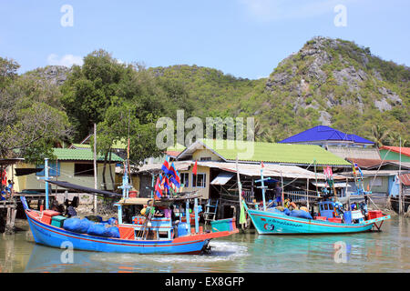
M 238 229 L 219 233 L 205 233 L 192 236 L 181 236 L 172 240 L 134 240 L 89 236 L 50 226 L 40 221 L 38 213 L 26 210 L 28 224 L 37 244 L 76 250 L 134 253 L 134 254 L 200 254 L 210 239 L 231 236 Z M 68 243 L 67 243 L 68 242 Z

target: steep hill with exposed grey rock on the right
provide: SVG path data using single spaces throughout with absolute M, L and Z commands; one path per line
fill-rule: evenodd
M 409 80 L 409 67 L 383 61 L 369 48 L 315 37 L 272 72 L 261 115 L 276 136 L 322 124 L 377 138 L 374 126 L 379 125 L 408 140 Z

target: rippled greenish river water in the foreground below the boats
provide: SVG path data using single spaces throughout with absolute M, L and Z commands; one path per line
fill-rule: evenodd
M 70 256 L 63 249 L 36 245 L 28 226 L 23 228 L 12 236 L 0 235 L 0 272 L 410 271 L 410 219 L 402 217 L 384 222 L 384 231 L 380 233 L 339 236 L 237 234 L 212 240 L 211 254 L 200 256 L 85 251 L 74 251 Z

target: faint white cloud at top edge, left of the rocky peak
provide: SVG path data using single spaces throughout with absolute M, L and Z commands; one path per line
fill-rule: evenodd
M 354 0 L 241 0 L 248 12 L 260 21 L 293 20 L 333 14 L 335 5 Z

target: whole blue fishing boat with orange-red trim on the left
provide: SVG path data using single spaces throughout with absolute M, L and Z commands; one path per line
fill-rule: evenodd
M 127 169 L 127 165 L 124 167 Z M 47 161 L 45 163 L 47 177 Z M 178 173 L 177 173 L 178 174 Z M 210 240 L 222 236 L 231 236 L 238 233 L 235 224 L 229 224 L 224 230 L 204 231 L 199 226 L 198 195 L 195 193 L 176 193 L 174 195 L 153 196 L 150 198 L 129 197 L 128 174 L 124 171 L 122 195 L 114 205 L 118 207 L 118 217 L 112 226 L 103 226 L 87 221 L 85 218 L 67 218 L 61 213 L 48 209 L 47 188 L 48 183 L 56 184 L 81 192 L 93 193 L 102 196 L 118 196 L 116 193 L 108 191 L 76 186 L 62 181 L 45 180 L 46 182 L 46 209 L 30 209 L 26 202 L 26 197 L 21 196 L 28 224 L 37 244 L 64 248 L 71 246 L 72 249 L 115 252 L 115 253 L 135 253 L 135 254 L 200 254 L 209 249 Z M 156 186 L 157 190 L 160 187 Z M 180 216 L 190 217 L 190 202 L 194 203 L 195 225 L 190 226 L 190 219 L 186 223 L 179 222 L 178 226 L 172 221 L 170 216 L 156 217 L 156 210 L 159 208 L 169 209 L 169 206 L 176 206 L 181 211 Z M 185 205 L 185 209 L 183 206 Z M 145 206 L 144 212 L 139 212 L 132 216 L 132 221 L 123 221 L 123 209 L 127 206 Z M 114 217 L 113 217 L 114 218 Z M 179 217 L 180 218 L 180 217 Z M 71 220 L 71 228 L 67 223 Z M 218 222 L 218 221 L 216 221 Z M 83 223 L 88 224 L 87 230 L 81 230 Z M 82 225 L 83 224 L 83 225 Z M 100 226 L 101 232 L 90 232 L 91 226 Z M 101 227 L 102 226 L 102 227 Z M 113 227 L 113 228 L 112 228 Z M 76 228 L 76 229 L 75 229 Z M 110 230 L 108 232 L 107 230 Z M 111 230 L 114 230 L 111 232 Z M 113 235 L 110 235 L 113 234 Z

